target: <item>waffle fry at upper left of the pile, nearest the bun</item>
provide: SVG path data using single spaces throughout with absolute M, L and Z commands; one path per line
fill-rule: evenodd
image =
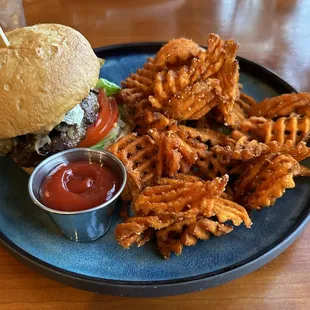
M 154 58 L 148 58 L 142 69 L 138 69 L 122 82 L 123 89 L 119 93 L 122 101 L 125 104 L 135 105 L 147 98 L 153 91 L 155 73 Z

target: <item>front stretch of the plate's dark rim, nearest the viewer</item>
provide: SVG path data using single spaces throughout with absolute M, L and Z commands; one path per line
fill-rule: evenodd
M 309 206 L 309 202 L 307 203 Z M 129 297 L 160 297 L 172 296 L 190 293 L 193 291 L 201 291 L 210 287 L 218 286 L 236 278 L 242 277 L 250 272 L 257 270 L 276 258 L 285 249 L 287 249 L 303 232 L 310 220 L 310 208 L 308 208 L 306 217 L 294 226 L 291 233 L 287 234 L 278 244 L 270 250 L 265 251 L 257 258 L 250 260 L 248 263 L 240 264 L 240 266 L 223 272 L 221 275 L 213 275 L 208 277 L 200 277 L 196 280 L 174 281 L 173 283 L 132 283 L 132 281 L 116 281 L 105 280 L 102 278 L 94 278 L 89 276 L 81 276 L 76 273 L 55 267 L 46 263 L 27 251 L 21 249 L 12 243 L 6 236 L 0 232 L 0 245 L 3 246 L 12 256 L 24 265 L 29 266 L 35 271 L 50 277 L 58 282 L 73 286 L 78 289 L 88 290 L 92 292 L 105 293 L 116 296 Z M 87 279 L 88 278 L 88 279 Z M 99 279 L 99 281 L 98 281 Z M 125 283 L 120 283 L 125 282 Z M 161 281 L 164 282 L 164 281 Z

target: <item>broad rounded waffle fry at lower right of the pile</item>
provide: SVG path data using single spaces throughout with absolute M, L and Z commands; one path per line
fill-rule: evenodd
M 294 188 L 298 162 L 290 155 L 262 155 L 246 165 L 234 183 L 234 198 L 249 209 L 271 206 L 287 188 Z

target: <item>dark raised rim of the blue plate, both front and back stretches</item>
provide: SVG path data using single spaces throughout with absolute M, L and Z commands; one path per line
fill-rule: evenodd
M 165 43 L 166 42 L 134 42 L 114 44 L 95 48 L 94 51 L 96 54 L 110 53 L 111 55 L 115 55 L 116 53 L 118 55 L 128 54 L 129 50 L 130 53 L 136 54 L 154 53 Z M 138 50 L 134 51 L 135 49 Z M 244 66 L 251 67 L 252 70 L 257 69 L 256 73 L 258 73 L 258 75 L 263 75 L 265 77 L 265 80 L 266 78 L 267 80 L 272 79 L 272 83 L 275 83 L 276 81 L 279 86 L 287 89 L 287 92 L 297 92 L 294 87 L 292 87 L 290 84 L 288 84 L 271 70 L 246 58 L 240 56 L 238 56 L 237 58 L 240 63 L 243 63 Z M 243 68 L 242 71 L 246 72 L 247 70 Z M 255 74 L 255 76 L 257 75 Z M 100 291 L 112 295 L 167 296 L 179 294 L 180 292 L 191 292 L 193 291 L 194 285 L 198 285 L 203 288 L 219 285 L 256 270 L 257 268 L 261 267 L 262 265 L 269 262 L 271 259 L 275 258 L 277 255 L 279 255 L 299 236 L 299 234 L 302 232 L 302 230 L 305 228 L 306 224 L 310 220 L 310 200 L 307 202 L 303 212 L 298 216 L 298 219 L 299 220 L 296 221 L 295 225 L 293 225 L 292 228 L 285 235 L 279 238 L 268 248 L 265 248 L 263 251 L 260 251 L 256 255 L 252 255 L 250 258 L 247 258 L 239 263 L 230 265 L 229 267 L 225 267 L 214 272 L 173 280 L 120 281 L 82 275 L 76 272 L 71 272 L 66 269 L 56 267 L 35 257 L 34 255 L 31 255 L 21 247 L 17 246 L 1 231 L 0 244 L 3 245 L 4 248 L 6 248 L 14 257 L 16 257 L 18 260 L 22 261 L 26 265 L 60 282 L 69 284 L 77 288 L 91 291 Z M 219 278 L 217 279 L 217 283 L 215 283 L 216 278 Z M 202 282 L 206 283 L 203 284 Z M 198 286 L 197 290 L 200 290 Z M 176 289 L 177 292 L 175 292 Z

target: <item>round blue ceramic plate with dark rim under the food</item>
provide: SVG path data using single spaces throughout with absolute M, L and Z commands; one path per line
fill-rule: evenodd
M 106 59 L 101 75 L 115 83 L 141 67 L 161 43 L 99 48 Z M 256 100 L 294 89 L 261 66 L 239 58 L 244 91 Z M 272 208 L 253 212 L 251 229 L 185 247 L 163 260 L 155 244 L 123 250 L 112 229 L 93 243 L 65 239 L 27 193 L 28 175 L 9 158 L 0 159 L 0 240 L 25 264 L 66 284 L 115 295 L 163 296 L 202 290 L 241 277 L 267 263 L 300 234 L 309 220 L 310 184 L 297 179 Z

